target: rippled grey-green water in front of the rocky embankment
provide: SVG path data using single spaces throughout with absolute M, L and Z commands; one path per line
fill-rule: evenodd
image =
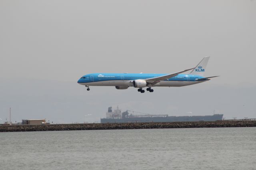
M 0 169 L 256 169 L 256 128 L 0 133 Z

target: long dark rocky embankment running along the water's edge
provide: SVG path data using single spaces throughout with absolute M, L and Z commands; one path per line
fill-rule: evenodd
M 216 127 L 256 127 L 256 121 L 2 125 L 0 126 L 0 132 Z

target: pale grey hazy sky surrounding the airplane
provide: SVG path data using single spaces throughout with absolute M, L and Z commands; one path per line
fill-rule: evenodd
M 173 73 L 210 55 L 188 87 L 91 87 L 87 73 Z M 256 118 L 254 0 L 0 0 L 0 118 L 99 121 L 107 107 Z M 92 114 L 85 117 L 84 115 Z M 0 120 L 0 123 L 2 121 Z

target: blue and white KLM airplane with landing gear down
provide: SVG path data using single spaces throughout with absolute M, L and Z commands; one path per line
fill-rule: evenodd
M 185 69 L 172 74 L 145 74 L 145 73 L 92 73 L 82 76 L 77 83 L 85 85 L 87 91 L 89 86 L 115 86 L 116 89 L 128 89 L 128 87 L 138 88 L 138 92 L 153 92 L 152 87 L 181 87 L 194 85 L 209 81 L 210 78 L 203 77 L 206 65 L 210 56 L 204 57 L 196 67 Z M 181 74 L 192 70 L 189 74 Z

